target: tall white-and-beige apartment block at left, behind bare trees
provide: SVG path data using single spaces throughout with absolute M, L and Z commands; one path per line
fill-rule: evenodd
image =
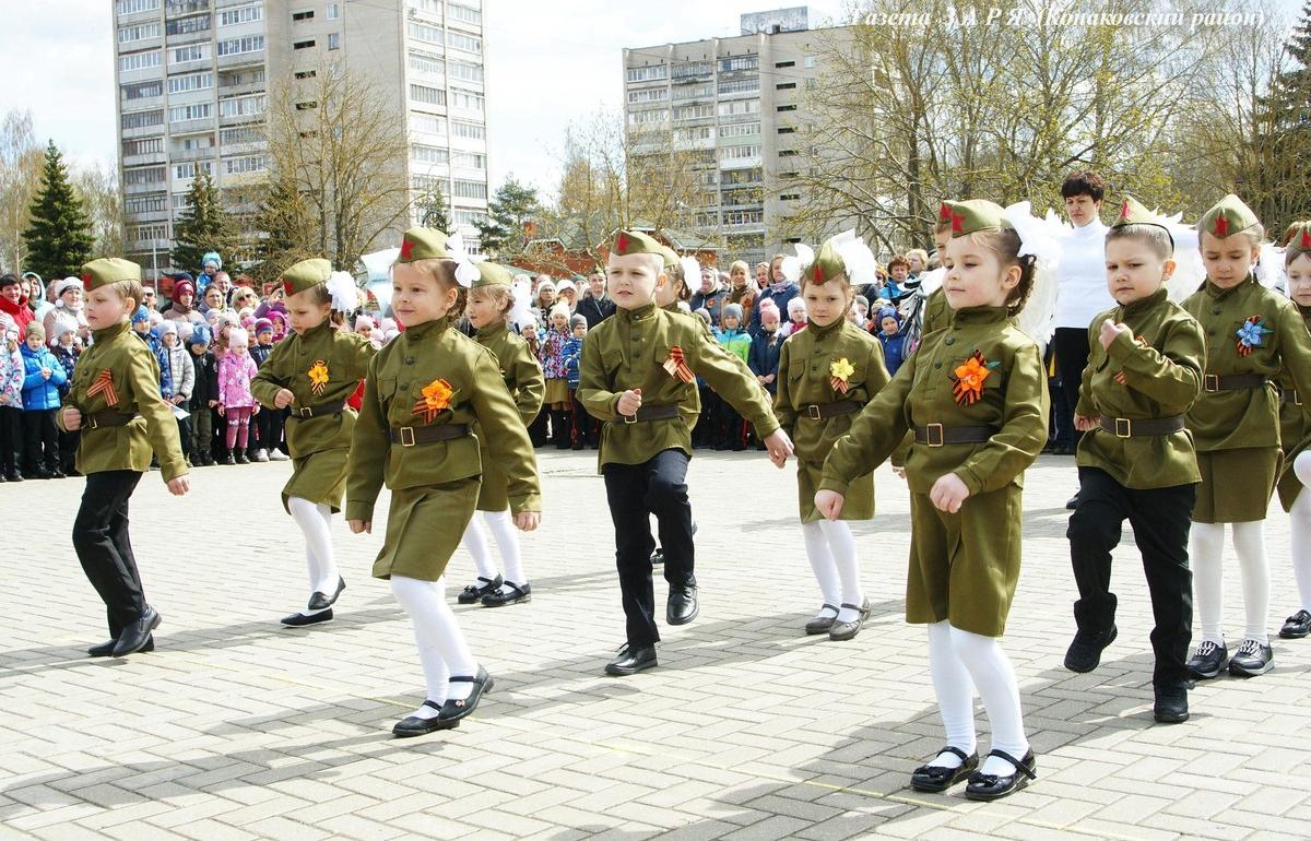
M 420 199 L 434 187 L 476 240 L 488 203 L 484 0 L 113 3 L 128 258 L 169 269 L 197 173 L 220 190 L 270 178 L 270 97 L 325 65 L 368 79 L 378 106 L 408 128 L 409 153 L 396 165 L 414 200 L 382 245 L 421 221 Z

